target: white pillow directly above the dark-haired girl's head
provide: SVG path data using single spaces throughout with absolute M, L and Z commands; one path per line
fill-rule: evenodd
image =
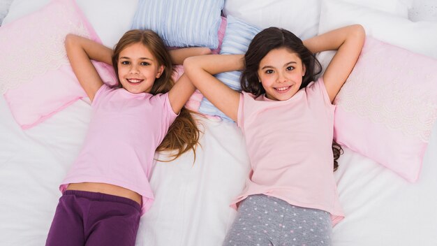
M 262 29 L 282 27 L 306 39 L 317 35 L 320 0 L 226 0 L 223 13 Z

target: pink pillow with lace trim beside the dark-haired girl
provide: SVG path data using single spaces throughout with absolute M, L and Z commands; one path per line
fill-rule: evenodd
M 366 38 L 336 96 L 334 138 L 409 182 L 437 118 L 437 60 Z

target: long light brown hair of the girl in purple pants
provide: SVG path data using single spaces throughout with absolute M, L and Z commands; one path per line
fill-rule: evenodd
M 114 66 L 117 80 L 119 80 L 118 73 L 118 59 L 121 50 L 124 50 L 128 45 L 134 43 L 142 43 L 154 55 L 159 66 L 164 66 L 164 71 L 159 78 L 156 78 L 154 85 L 151 87 L 150 94 L 156 95 L 160 93 L 169 92 L 175 82 L 172 79 L 173 66 L 172 60 L 168 50 L 165 48 L 163 40 L 158 34 L 151 30 L 133 29 L 127 31 L 120 41 L 115 45 L 114 55 L 112 55 L 112 66 Z M 119 87 L 121 87 L 121 82 Z M 175 122 L 168 129 L 168 133 L 163 139 L 162 143 L 156 148 L 156 151 L 177 150 L 172 154 L 174 160 L 181 156 L 188 150 L 193 150 L 195 157 L 195 148 L 198 145 L 200 131 L 196 124 L 191 110 L 182 108 Z

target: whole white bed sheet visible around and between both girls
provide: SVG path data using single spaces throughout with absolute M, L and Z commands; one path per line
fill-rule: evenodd
M 44 244 L 89 113 L 77 101 L 22 131 L 0 100 L 0 245 Z M 221 245 L 232 224 L 228 204 L 249 172 L 244 139 L 235 124 L 200 121 L 205 134 L 195 163 L 188 153 L 155 166 L 156 201 L 141 219 L 137 245 Z M 436 150 L 434 129 L 420 180 L 411 184 L 346 149 L 335 173 L 346 218 L 334 227 L 333 245 L 437 245 Z

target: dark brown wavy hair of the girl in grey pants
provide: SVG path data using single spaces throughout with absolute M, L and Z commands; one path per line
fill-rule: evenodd
M 265 89 L 259 82 L 258 68 L 262 58 L 271 50 L 278 48 L 286 48 L 290 52 L 294 52 L 302 60 L 306 71 L 299 89 L 306 87 L 311 81 L 316 80 L 316 75 L 321 73 L 322 66 L 316 59 L 316 55 L 306 48 L 300 38 L 286 29 L 269 27 L 255 35 L 246 55 L 244 55 L 245 66 L 240 80 L 244 92 L 249 92 L 255 96 L 265 94 Z M 343 149 L 334 140 L 332 140 L 332 154 L 334 155 L 334 171 L 336 171 L 339 166 L 337 160 L 343 154 Z

